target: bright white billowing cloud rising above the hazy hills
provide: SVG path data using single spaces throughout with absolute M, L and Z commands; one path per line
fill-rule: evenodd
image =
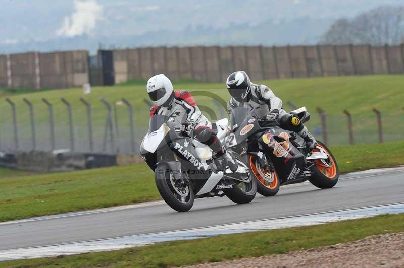
M 63 25 L 56 31 L 58 36 L 72 37 L 90 33 L 97 21 L 103 17 L 103 6 L 96 0 L 74 0 L 74 13 L 63 19 Z

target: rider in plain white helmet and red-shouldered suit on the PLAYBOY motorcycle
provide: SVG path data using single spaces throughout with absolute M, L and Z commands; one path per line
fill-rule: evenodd
M 194 128 L 194 138 L 208 145 L 217 157 L 222 157 L 231 171 L 237 170 L 237 162 L 212 132 L 212 123 L 201 113 L 188 91 L 173 90 L 171 81 L 163 74 L 151 77 L 147 81 L 146 90 L 155 104 L 150 108 L 150 117 L 155 114 L 175 117 L 184 129 Z

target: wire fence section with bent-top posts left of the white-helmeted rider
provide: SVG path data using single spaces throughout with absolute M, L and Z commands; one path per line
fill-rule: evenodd
M 136 123 L 132 104 L 121 99 L 91 105 L 80 98 L 81 107 L 61 98 L 59 103 L 24 99 L 17 105 L 1 107 L 0 150 L 54 151 L 137 154 L 145 125 Z M 63 106 L 61 106 L 63 104 Z M 7 108 L 7 109 L 6 109 Z M 146 104 L 144 109 L 148 110 Z

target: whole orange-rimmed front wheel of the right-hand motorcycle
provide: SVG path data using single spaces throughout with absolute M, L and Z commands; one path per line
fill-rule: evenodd
M 278 193 L 280 181 L 276 170 L 269 171 L 264 169 L 257 156 L 251 154 L 245 154 L 244 160 L 248 163 L 252 174 L 254 174 L 257 180 L 257 191 L 264 196 L 273 196 Z

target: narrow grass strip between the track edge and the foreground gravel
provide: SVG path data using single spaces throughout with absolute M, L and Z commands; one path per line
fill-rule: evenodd
M 0 267 L 170 267 L 282 254 L 403 231 L 404 214 L 381 215 L 324 225 L 166 242 L 110 252 L 0 262 Z

